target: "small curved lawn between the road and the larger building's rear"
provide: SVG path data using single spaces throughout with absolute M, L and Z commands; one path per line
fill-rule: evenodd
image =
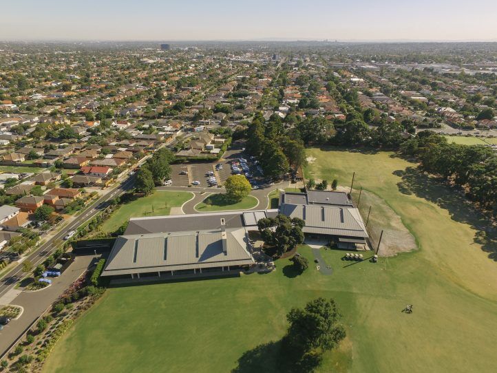
M 138 198 L 120 206 L 109 220 L 103 223 L 102 231 L 112 233 L 130 217 L 169 215 L 171 207 L 180 207 L 190 199 L 191 193 L 189 192 L 154 191 L 147 197 Z

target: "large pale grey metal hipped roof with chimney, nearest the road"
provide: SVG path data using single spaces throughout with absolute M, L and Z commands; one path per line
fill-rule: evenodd
M 116 239 L 103 276 L 253 263 L 244 228 L 123 235 Z

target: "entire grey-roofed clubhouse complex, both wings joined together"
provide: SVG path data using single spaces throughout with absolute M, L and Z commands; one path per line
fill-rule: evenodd
M 346 193 L 282 191 L 279 209 L 131 218 L 102 275 L 129 280 L 240 273 L 257 264 L 249 233 L 278 213 L 304 220 L 308 239 L 366 247 L 366 227 Z

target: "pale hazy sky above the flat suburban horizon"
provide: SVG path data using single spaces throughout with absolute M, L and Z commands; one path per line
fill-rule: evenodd
M 497 0 L 11 0 L 0 40 L 497 41 Z

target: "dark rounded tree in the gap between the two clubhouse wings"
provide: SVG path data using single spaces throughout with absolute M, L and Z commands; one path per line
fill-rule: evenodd
M 290 219 L 290 217 L 281 214 L 257 222 L 257 228 L 259 228 L 264 243 L 273 247 L 278 256 L 293 250 L 298 244 L 304 242 L 304 233 L 302 232 L 304 225 L 304 220 L 298 217 Z

